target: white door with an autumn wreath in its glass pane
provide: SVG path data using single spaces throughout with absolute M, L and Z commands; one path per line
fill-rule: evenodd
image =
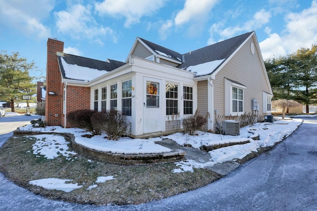
M 162 131 L 161 80 L 144 78 L 144 133 Z

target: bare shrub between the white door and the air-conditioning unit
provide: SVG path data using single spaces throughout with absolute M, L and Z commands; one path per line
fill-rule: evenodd
M 199 129 L 206 125 L 206 123 L 207 117 L 200 115 L 198 110 L 196 110 L 194 115 L 182 120 L 182 126 L 190 135 L 195 135 Z

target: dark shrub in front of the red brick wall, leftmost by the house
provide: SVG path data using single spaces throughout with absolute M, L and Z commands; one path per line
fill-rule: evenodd
M 95 113 L 98 113 L 98 111 L 82 109 L 68 113 L 67 118 L 74 127 L 82 128 L 93 135 L 100 135 L 101 130 L 95 128 L 91 122 L 91 117 Z

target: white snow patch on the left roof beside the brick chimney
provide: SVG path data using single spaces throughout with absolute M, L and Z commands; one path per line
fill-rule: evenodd
M 106 70 L 97 70 L 89 67 L 67 64 L 62 57 L 60 57 L 60 60 L 64 68 L 65 77 L 68 79 L 92 81 L 108 73 Z

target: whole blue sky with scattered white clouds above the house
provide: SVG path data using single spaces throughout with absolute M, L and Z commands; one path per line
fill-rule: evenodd
M 125 61 L 136 37 L 186 53 L 255 31 L 264 59 L 317 43 L 317 0 L 0 0 L 0 50 L 46 75 L 48 38 L 64 52 Z

